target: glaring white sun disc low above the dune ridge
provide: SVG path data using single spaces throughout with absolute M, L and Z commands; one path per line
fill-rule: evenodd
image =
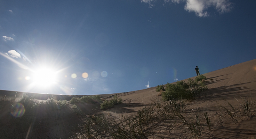
M 49 87 L 56 84 L 56 71 L 50 68 L 40 68 L 34 72 L 34 84 L 41 87 Z

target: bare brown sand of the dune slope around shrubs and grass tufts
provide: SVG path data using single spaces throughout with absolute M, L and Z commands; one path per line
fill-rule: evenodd
M 203 92 L 201 97 L 193 101 L 184 101 L 184 112 L 182 115 L 187 118 L 188 121 L 194 122 L 196 120 L 196 114 L 200 120 L 200 132 L 201 138 L 256 138 L 256 60 L 243 62 L 230 66 L 224 69 L 219 69 L 204 74 L 206 79 L 206 85 L 208 90 Z M 191 77 L 195 79 L 196 77 Z M 187 81 L 187 79 L 183 80 Z M 116 94 L 104 94 L 101 95 L 103 100 L 112 99 L 115 95 L 122 97 L 123 104 L 115 105 L 114 108 L 108 110 L 100 110 L 100 104 L 77 104 L 79 107 L 79 115 L 72 110 L 71 104 L 67 108 L 57 110 L 51 113 L 53 116 L 44 119 L 47 113 L 43 110 L 36 110 L 36 118 L 31 123 L 34 123 L 34 128 L 31 129 L 30 123 L 25 126 L 26 129 L 19 129 L 17 126 L 19 118 L 12 118 L 10 116 L 10 106 L 5 106 L 7 101 L 3 101 L 3 97 L 7 96 L 12 98 L 16 92 L 14 91 L 0 91 L 1 101 L 1 138 L 76 138 L 74 132 L 77 132 L 81 137 L 81 133 L 78 128 L 86 123 L 86 118 L 94 116 L 95 114 L 105 114 L 108 117 L 118 121 L 122 115 L 135 115 L 142 107 L 150 107 L 151 104 L 160 100 L 161 96 L 157 96 L 156 87 L 148 89 L 130 91 Z M 19 92 L 18 95 L 21 95 Z M 28 93 L 29 96 L 33 96 L 36 99 L 46 100 L 49 98 L 48 94 L 35 94 Z M 6 98 L 7 98 L 6 97 Z M 53 95 L 54 99 L 66 99 L 70 100 L 72 97 L 82 96 L 65 96 L 65 95 Z M 250 115 L 243 114 L 243 108 L 240 103 L 243 103 L 242 97 L 249 99 L 251 102 Z M 130 103 L 129 103 L 130 102 Z M 228 104 L 228 103 L 230 104 Z M 226 110 L 220 106 L 225 106 Z M 233 106 L 234 109 L 231 107 Z M 156 107 L 153 107 L 155 112 L 159 112 Z M 42 111 L 42 113 L 40 113 Z M 230 113 L 229 113 L 230 112 Z M 208 129 L 206 124 L 204 113 L 208 113 L 211 118 L 211 130 Z M 231 114 L 231 115 L 230 115 Z M 43 115 L 43 116 L 42 116 Z M 55 116 L 54 116 L 55 115 Z M 159 114 L 154 113 L 151 121 L 144 126 L 143 132 L 149 132 L 145 138 L 190 138 L 192 137 L 191 131 L 188 128 L 188 122 L 184 122 L 181 119 L 172 119 L 168 117 L 162 118 Z M 232 118 L 233 116 L 233 118 Z M 175 117 L 175 116 L 174 116 Z M 177 116 L 176 116 L 177 118 Z M 42 124 L 41 122 L 44 121 Z M 16 124 L 15 124 L 16 123 Z M 38 126 L 36 125 L 38 124 Z M 57 126 L 59 125 L 59 126 Z M 61 126 L 60 126 L 61 125 Z M 44 128 L 43 131 L 38 131 Z M 27 134 L 28 130 L 31 130 Z M 18 134 L 19 131 L 19 134 Z M 128 131 L 128 129 L 127 129 Z M 16 134 L 11 134 L 17 132 Z M 22 134 L 24 132 L 24 134 Z M 26 134 L 25 134 L 26 133 Z M 105 133 L 105 132 L 104 132 Z M 103 134 L 103 133 L 102 133 Z M 107 133 L 106 133 L 107 134 Z M 16 136 L 14 136 L 16 135 Z M 86 138 L 86 135 L 84 135 Z M 196 137 L 196 136 L 194 136 Z M 112 138 L 111 135 L 94 135 L 92 138 Z M 138 137 L 139 138 L 139 137 Z M 193 137 L 192 137 L 193 138 Z

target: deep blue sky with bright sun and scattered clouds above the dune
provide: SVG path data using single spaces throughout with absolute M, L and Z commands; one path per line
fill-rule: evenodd
M 1 0 L 0 89 L 135 91 L 256 58 L 255 1 Z M 83 76 L 82 76 L 83 75 Z

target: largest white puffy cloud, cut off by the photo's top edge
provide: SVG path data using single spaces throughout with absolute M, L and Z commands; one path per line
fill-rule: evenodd
M 141 0 L 141 2 L 150 5 L 155 0 Z M 169 2 L 177 4 L 185 2 L 184 9 L 188 12 L 195 12 L 198 17 L 209 16 L 207 12 L 209 7 L 214 7 L 220 14 L 229 12 L 233 8 L 233 3 L 229 2 L 229 0 L 164 0 L 164 3 Z

